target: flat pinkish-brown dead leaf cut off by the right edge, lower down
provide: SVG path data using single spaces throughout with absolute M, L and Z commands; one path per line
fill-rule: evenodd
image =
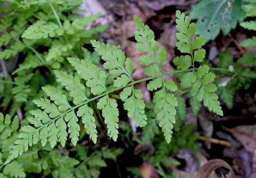
M 228 130 L 243 144 L 247 151 L 255 153 L 256 125 L 237 126 Z

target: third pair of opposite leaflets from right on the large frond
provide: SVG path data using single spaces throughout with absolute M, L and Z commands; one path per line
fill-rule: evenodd
M 99 55 L 101 55 L 101 58 L 106 61 L 103 65 L 104 68 L 109 69 L 110 75 L 116 78 L 114 86 L 122 87 L 133 81 L 133 61 L 130 58 L 125 58 L 124 52 L 121 49 L 95 40 L 92 40 L 91 43 Z M 121 76 L 118 77 L 119 75 Z M 147 117 L 144 115 L 145 104 L 142 100 L 141 91 L 134 89 L 133 86 L 127 87 L 121 92 L 120 97 L 124 100 L 124 109 L 128 111 L 128 116 L 133 116 L 135 123 L 140 127 L 145 126 L 147 124 Z

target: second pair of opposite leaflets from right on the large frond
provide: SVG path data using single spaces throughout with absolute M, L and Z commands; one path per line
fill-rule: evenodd
M 149 55 L 141 56 L 138 59 L 138 62 L 141 65 L 146 65 L 144 72 L 148 76 L 155 76 L 158 73 L 163 74 L 161 66 L 163 65 L 164 61 L 166 61 L 165 49 L 157 46 L 154 32 L 150 30 L 147 25 L 143 24 L 138 16 L 134 16 L 134 21 L 139 29 L 139 31 L 134 32 L 135 39 L 138 41 L 136 49 L 140 52 L 150 53 Z M 177 106 L 177 98 L 174 97 L 173 94 L 167 93 L 166 89 L 176 91 L 177 86 L 172 80 L 164 81 L 163 77 L 156 78 L 150 81 L 147 85 L 147 88 L 150 91 L 157 90 L 161 87 L 162 89 L 156 92 L 154 96 L 153 101 L 156 104 L 154 111 L 158 113 L 157 119 L 159 120 L 159 126 L 164 132 L 167 143 L 170 143 L 171 134 L 173 133 L 173 124 L 175 123 L 175 106 Z

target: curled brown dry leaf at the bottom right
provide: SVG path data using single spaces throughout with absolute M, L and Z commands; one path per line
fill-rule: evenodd
M 235 174 L 233 169 L 227 162 L 220 159 L 210 160 L 202 165 L 197 172 L 196 178 L 209 178 L 211 173 L 220 167 L 225 167 L 230 170 L 226 175 L 227 178 L 234 178 Z

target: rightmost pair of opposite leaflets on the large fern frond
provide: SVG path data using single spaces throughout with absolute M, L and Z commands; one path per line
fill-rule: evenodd
M 188 55 L 177 57 L 174 59 L 174 64 L 177 65 L 178 69 L 181 68 L 184 70 L 190 67 L 192 62 L 194 68 L 194 62 L 202 62 L 202 59 L 205 57 L 205 50 L 201 49 L 205 44 L 205 37 L 197 36 L 191 43 L 191 37 L 196 32 L 196 25 L 194 23 L 190 24 L 189 17 L 186 16 L 185 18 L 184 13 L 180 13 L 180 11 L 176 12 L 176 16 L 176 28 L 178 30 L 176 35 L 178 42 L 176 46 L 180 52 L 189 53 L 191 57 Z M 197 49 L 194 54 L 193 49 Z M 185 74 L 181 79 L 180 88 L 186 89 L 192 87 L 190 91 L 192 96 L 197 95 L 198 101 L 203 100 L 204 106 L 208 107 L 209 111 L 223 115 L 219 106 L 220 103 L 217 100 L 218 96 L 214 93 L 217 87 L 211 83 L 214 79 L 215 75 L 209 72 L 209 66 L 203 65 L 198 68 L 197 72 L 193 71 Z

